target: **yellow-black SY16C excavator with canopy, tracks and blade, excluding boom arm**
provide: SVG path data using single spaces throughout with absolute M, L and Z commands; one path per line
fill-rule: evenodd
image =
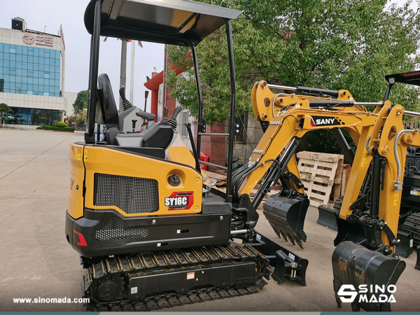
M 85 27 L 92 34 L 85 141 L 72 144 L 66 238 L 87 269 L 88 309 L 151 310 L 254 293 L 272 276 L 305 285 L 308 261 L 255 232 L 249 196 L 233 200 L 235 64 L 230 20 L 241 12 L 185 0 L 91 0 Z M 195 46 L 225 25 L 231 97 L 228 193 L 211 189 L 197 152 L 206 134 Z M 172 118 L 155 123 L 132 104 L 118 113 L 109 77 L 98 76 L 100 36 L 190 48 L 199 99 L 197 151 L 191 153 Z M 120 90 L 124 99 L 124 91 Z M 130 112 L 130 113 L 128 113 Z M 127 114 L 128 113 L 128 114 Z M 129 115 L 130 114 L 130 115 Z M 106 125 L 104 141 L 94 123 Z M 128 127 L 127 127 L 128 124 Z M 127 131 L 129 130 L 129 131 Z M 125 132 L 124 132 L 125 131 Z M 225 134 L 220 134 L 226 136 Z

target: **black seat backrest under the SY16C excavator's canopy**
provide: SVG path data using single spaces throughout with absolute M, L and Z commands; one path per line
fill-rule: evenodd
M 98 96 L 106 128 L 110 129 L 116 127 L 119 130 L 120 126 L 118 123 L 116 99 L 114 99 L 111 81 L 106 73 L 102 73 L 98 77 Z

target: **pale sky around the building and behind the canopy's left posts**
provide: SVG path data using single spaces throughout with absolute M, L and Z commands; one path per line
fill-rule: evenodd
M 57 35 L 60 25 L 66 44 L 66 92 L 87 90 L 89 78 L 90 34 L 87 33 L 83 16 L 88 0 L 0 0 L 0 27 L 11 28 L 12 18 L 23 18 L 27 28 Z M 7 5 L 6 5 L 7 3 Z M 143 43 L 143 48 L 136 45 L 134 58 L 134 105 L 144 109 L 146 76 L 151 77 L 156 67 L 160 72 L 164 67 L 164 45 Z M 132 43 L 127 44 L 127 83 L 126 96 L 130 95 L 130 58 Z M 113 93 L 116 96 L 120 86 L 121 41 L 108 38 L 101 41 L 99 49 L 99 73 L 107 73 Z M 148 96 L 150 111 L 151 94 Z M 117 103 L 118 104 L 118 103 Z M 118 106 L 118 105 L 117 105 Z

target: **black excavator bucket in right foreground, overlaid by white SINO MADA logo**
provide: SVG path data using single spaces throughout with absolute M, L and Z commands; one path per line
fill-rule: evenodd
M 391 311 L 391 294 L 404 269 L 405 262 L 398 258 L 343 241 L 332 253 L 337 306 L 351 302 L 353 311 Z

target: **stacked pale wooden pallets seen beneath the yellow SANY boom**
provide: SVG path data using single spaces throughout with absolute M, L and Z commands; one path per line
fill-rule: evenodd
M 297 168 L 311 206 L 328 206 L 342 191 L 344 155 L 302 151 L 296 154 Z

